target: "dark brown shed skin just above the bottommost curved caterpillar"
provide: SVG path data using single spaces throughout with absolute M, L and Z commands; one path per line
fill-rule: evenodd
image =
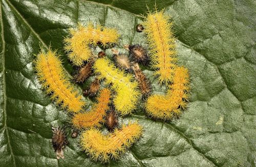
M 113 131 L 118 126 L 118 118 L 114 107 L 111 107 L 111 111 L 105 118 L 105 124 L 109 131 Z

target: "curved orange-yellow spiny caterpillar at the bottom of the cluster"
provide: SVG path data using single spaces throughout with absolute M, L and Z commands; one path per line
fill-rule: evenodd
M 108 135 L 102 135 L 97 129 L 90 129 L 81 135 L 81 146 L 94 161 L 103 163 L 110 159 L 116 160 L 123 152 L 130 148 L 142 135 L 142 127 L 137 122 L 122 125 Z

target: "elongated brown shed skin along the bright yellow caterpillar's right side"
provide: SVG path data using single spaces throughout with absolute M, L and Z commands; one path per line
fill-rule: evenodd
M 135 79 L 139 82 L 139 88 L 143 97 L 147 97 L 151 94 L 150 81 L 148 81 L 146 75 L 140 70 L 138 63 L 133 65 L 133 71 L 135 73 Z

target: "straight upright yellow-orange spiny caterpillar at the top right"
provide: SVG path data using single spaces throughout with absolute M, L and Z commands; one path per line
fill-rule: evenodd
M 162 11 L 149 12 L 143 22 L 144 32 L 150 46 L 150 57 L 155 75 L 159 81 L 168 82 L 173 80 L 176 67 L 176 45 L 172 31 L 172 22 Z

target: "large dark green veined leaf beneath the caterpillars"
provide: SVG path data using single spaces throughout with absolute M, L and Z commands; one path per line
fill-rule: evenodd
M 156 1 L 174 20 L 179 64 L 189 69 L 191 97 L 181 118 L 153 121 L 137 110 L 143 137 L 109 166 L 255 166 L 256 4 L 244 1 Z M 62 55 L 63 37 L 77 22 L 101 23 L 121 33 L 118 47 L 145 44 L 135 31 L 139 14 L 155 1 L 1 0 L 0 166 L 101 166 L 71 138 L 65 159 L 56 159 L 51 127 L 69 116 L 49 100 L 33 71 L 39 46 Z M 96 48 L 96 52 L 99 51 Z M 108 54 L 110 49 L 106 50 Z M 153 71 L 144 72 L 164 93 Z

